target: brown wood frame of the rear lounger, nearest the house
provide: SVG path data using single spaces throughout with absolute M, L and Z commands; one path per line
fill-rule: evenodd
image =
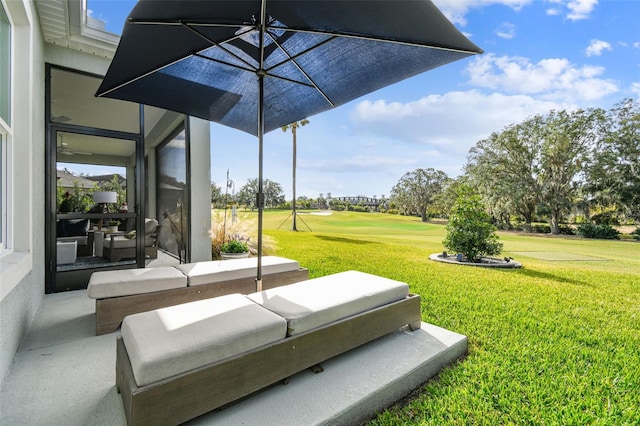
M 307 268 L 264 274 L 262 288 L 267 290 L 307 279 L 309 279 Z M 255 291 L 255 277 L 248 277 L 151 293 L 96 299 L 96 336 L 116 331 L 127 315 L 232 293 L 249 294 Z

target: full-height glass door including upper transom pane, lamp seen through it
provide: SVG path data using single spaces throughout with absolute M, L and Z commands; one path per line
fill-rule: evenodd
M 46 292 L 145 265 L 141 107 L 94 96 L 100 77 L 47 66 Z M 141 236 L 142 235 L 142 236 Z

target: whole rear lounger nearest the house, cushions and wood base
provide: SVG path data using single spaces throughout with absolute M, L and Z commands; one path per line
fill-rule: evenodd
M 256 290 L 257 259 L 214 260 L 157 268 L 94 272 L 87 295 L 96 299 L 96 335 L 111 333 L 127 315 L 232 293 Z M 291 259 L 262 258 L 262 287 L 309 278 Z

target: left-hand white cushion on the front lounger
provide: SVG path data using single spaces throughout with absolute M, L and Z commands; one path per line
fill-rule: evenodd
M 286 336 L 284 318 L 240 294 L 129 315 L 122 338 L 138 386 Z

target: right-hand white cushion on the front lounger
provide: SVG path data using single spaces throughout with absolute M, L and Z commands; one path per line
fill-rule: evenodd
M 293 336 L 406 298 L 405 283 L 347 271 L 248 295 L 287 319 Z

